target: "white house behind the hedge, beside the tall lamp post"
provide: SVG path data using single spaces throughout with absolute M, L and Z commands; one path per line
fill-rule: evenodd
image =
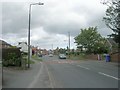
M 28 45 L 27 42 L 18 42 L 18 46 L 20 51 L 28 53 Z M 32 55 L 32 49 L 30 48 L 30 55 Z

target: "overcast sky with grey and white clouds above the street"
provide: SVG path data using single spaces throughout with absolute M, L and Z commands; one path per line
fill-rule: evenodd
M 103 17 L 107 6 L 102 0 L 2 0 L 0 1 L 0 39 L 11 45 L 28 42 L 28 12 L 31 3 L 31 45 L 55 49 L 68 46 L 70 32 L 71 49 L 76 48 L 74 37 L 80 29 L 98 27 L 106 37 L 112 31 L 106 27 Z

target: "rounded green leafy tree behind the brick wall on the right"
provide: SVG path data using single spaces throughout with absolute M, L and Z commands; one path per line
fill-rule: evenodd
M 88 53 L 104 52 L 102 48 L 105 47 L 105 39 L 97 32 L 97 27 L 81 29 L 81 33 L 75 37 L 75 43 L 86 48 Z

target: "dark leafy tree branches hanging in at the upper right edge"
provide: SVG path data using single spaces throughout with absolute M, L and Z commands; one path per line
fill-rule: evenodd
M 103 17 L 106 25 L 113 30 L 112 36 L 114 40 L 119 43 L 120 48 L 120 0 L 107 0 L 103 4 L 108 5 L 106 16 Z

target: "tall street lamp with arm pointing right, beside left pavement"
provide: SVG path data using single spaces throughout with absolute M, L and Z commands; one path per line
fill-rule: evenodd
M 32 5 L 44 5 L 44 3 L 32 3 L 29 6 L 29 26 L 28 26 L 28 68 L 30 68 L 30 21 L 31 21 L 31 6 Z

